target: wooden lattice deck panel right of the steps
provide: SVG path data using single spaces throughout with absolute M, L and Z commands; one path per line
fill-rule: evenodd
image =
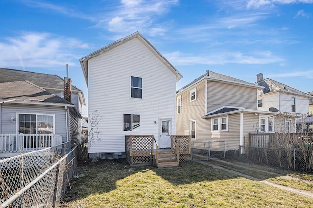
M 171 151 L 179 156 L 179 162 L 187 162 L 190 154 L 190 136 L 171 135 Z

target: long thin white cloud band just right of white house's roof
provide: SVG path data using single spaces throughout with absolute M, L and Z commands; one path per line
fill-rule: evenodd
M 193 65 L 193 64 L 209 64 L 223 65 L 229 63 L 236 64 L 270 64 L 281 63 L 284 59 L 273 55 L 269 51 L 258 51 L 250 54 L 242 52 L 217 52 L 209 55 L 193 56 L 191 54 L 183 54 L 181 52 L 172 52 L 164 54 L 167 59 L 174 65 Z

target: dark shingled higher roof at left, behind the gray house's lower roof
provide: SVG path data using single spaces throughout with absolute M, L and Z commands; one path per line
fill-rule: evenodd
M 0 68 L 0 83 L 15 81 L 30 81 L 46 90 L 63 91 L 64 79 L 58 75 L 50 75 L 38 72 L 29 72 L 17 69 Z M 85 105 L 83 91 L 72 85 L 72 91 L 79 93 L 81 103 Z

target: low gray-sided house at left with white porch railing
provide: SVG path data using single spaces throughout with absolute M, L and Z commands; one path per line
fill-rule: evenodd
M 70 82 L 65 80 L 65 88 Z M 77 141 L 74 104 L 30 81 L 0 83 L 0 157 Z

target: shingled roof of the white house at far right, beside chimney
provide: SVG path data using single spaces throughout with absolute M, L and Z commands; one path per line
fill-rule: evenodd
M 266 93 L 281 91 L 281 92 L 285 92 L 285 93 L 291 93 L 291 94 L 295 94 L 295 95 L 313 98 L 313 96 L 311 96 L 311 95 L 308 95 L 308 94 L 306 94 L 300 90 L 294 89 L 292 87 L 289 87 L 285 84 L 282 84 L 282 83 L 277 82 L 275 80 L 272 80 L 270 78 L 263 79 L 260 82 L 256 82 L 255 84 L 264 87 L 262 90 L 258 91 L 258 95 L 264 95 Z

